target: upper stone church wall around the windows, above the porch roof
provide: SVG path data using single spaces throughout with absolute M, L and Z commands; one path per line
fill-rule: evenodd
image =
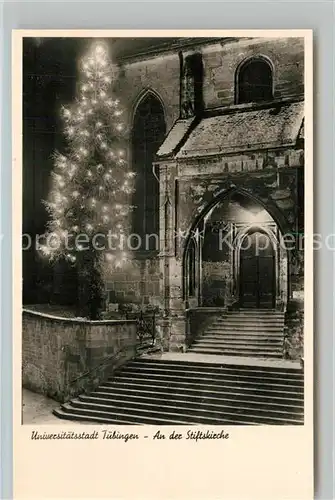
M 273 65 L 275 99 L 301 95 L 304 91 L 303 38 L 223 39 L 221 43 L 194 46 L 182 52 L 184 57 L 193 52 L 202 54 L 205 109 L 234 104 L 236 70 L 242 61 L 258 55 Z M 116 90 L 120 99 L 127 103 L 129 126 L 138 101 L 147 89 L 151 89 L 164 105 L 169 130 L 179 117 L 180 61 L 177 51 L 118 61 L 117 71 Z

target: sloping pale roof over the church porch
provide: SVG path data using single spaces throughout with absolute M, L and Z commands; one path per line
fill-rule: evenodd
M 235 108 L 216 116 L 177 120 L 157 158 L 178 159 L 294 146 L 304 118 L 304 103 L 276 103 L 261 109 Z

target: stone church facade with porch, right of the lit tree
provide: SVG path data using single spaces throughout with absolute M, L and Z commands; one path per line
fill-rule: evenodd
M 304 40 L 166 39 L 119 54 L 115 72 L 136 209 L 106 310 L 155 310 L 168 351 L 223 311 L 278 312 L 283 356 L 299 358 Z

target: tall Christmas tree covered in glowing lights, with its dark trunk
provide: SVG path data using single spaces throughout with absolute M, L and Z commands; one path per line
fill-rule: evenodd
M 81 61 L 76 102 L 62 109 L 66 153 L 55 154 L 50 214 L 42 252 L 66 259 L 78 274 L 78 314 L 99 317 L 104 282 L 102 266 L 118 268 L 127 253 L 134 173 L 125 159 L 122 109 L 113 97 L 108 51 L 95 43 Z

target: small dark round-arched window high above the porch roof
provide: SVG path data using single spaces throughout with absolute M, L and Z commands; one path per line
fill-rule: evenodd
M 261 58 L 248 59 L 238 70 L 236 104 L 273 99 L 272 68 Z

